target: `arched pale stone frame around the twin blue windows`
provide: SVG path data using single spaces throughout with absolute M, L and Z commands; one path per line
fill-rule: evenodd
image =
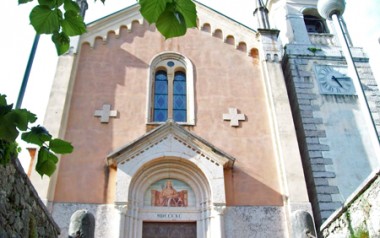
M 169 61 L 174 62 L 174 66 L 168 66 Z M 186 110 L 187 121 L 177 122 L 180 125 L 195 125 L 195 102 L 194 102 L 194 67 L 192 62 L 182 54 L 177 52 L 163 52 L 153 57 L 148 76 L 148 92 L 147 92 L 147 116 L 146 123 L 151 125 L 159 125 L 165 122 L 157 122 L 153 120 L 154 112 L 154 83 L 157 71 L 164 70 L 168 77 L 168 119 L 172 119 L 173 111 L 173 80 L 174 74 L 182 71 L 186 74 Z

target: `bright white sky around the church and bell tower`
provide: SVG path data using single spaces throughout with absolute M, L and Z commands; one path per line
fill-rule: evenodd
M 252 16 L 254 1 L 200 2 L 254 29 L 255 20 Z M 88 3 L 89 9 L 85 20 L 92 22 L 136 3 L 136 0 L 106 0 L 105 5 L 100 0 L 96 2 L 88 0 Z M 346 0 L 346 3 L 343 17 L 354 45 L 363 47 L 369 55 L 375 77 L 380 82 L 380 0 Z M 6 0 L 0 8 L 2 30 L 0 49 L 3 54 L 0 64 L 0 94 L 6 94 L 9 103 L 16 103 L 33 44 L 35 33 L 29 24 L 28 16 L 34 5 L 33 2 L 18 5 L 17 0 Z M 27 108 L 38 115 L 37 124 L 43 123 L 57 59 L 50 36 L 41 36 L 22 104 L 22 108 Z

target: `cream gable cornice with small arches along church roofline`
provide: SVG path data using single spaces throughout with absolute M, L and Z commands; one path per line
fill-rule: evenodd
M 239 22 L 194 1 L 198 16 L 198 29 L 206 31 L 210 37 L 220 38 L 226 44 L 233 44 L 236 49 L 249 54 L 250 49 L 258 48 L 256 31 L 240 24 Z M 94 45 L 95 39 L 102 38 L 107 42 L 108 35 L 112 32 L 116 37 L 120 29 L 127 28 L 133 31 L 133 23 L 143 24 L 144 19 L 140 14 L 140 5 L 134 4 L 106 17 L 87 24 L 87 32 L 80 38 L 80 43 Z M 232 42 L 231 42 L 231 39 Z

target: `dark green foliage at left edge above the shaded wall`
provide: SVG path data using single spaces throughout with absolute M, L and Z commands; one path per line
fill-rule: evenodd
M 58 162 L 55 154 L 71 153 L 73 146 L 67 141 L 53 138 L 42 126 L 29 128 L 29 124 L 36 120 L 36 115 L 26 109 L 13 109 L 13 104 L 8 104 L 6 96 L 0 94 L 0 164 L 5 165 L 17 157 L 20 148 L 16 139 L 21 133 L 23 141 L 40 147 L 36 171 L 41 176 L 51 176 Z

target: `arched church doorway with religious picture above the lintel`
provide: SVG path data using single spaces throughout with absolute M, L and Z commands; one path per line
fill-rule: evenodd
M 192 229 L 210 237 L 211 190 L 206 176 L 192 162 L 177 157 L 155 159 L 131 180 L 126 237 L 143 237 L 143 230 L 162 223 L 162 229 Z M 190 227 L 190 228 L 189 228 Z M 211 234 L 210 234 L 211 235 Z

